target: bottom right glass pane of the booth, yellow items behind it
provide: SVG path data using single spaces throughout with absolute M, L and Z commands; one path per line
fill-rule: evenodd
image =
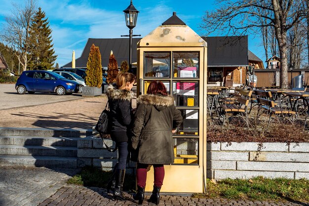
M 174 138 L 174 164 L 198 164 L 198 138 Z

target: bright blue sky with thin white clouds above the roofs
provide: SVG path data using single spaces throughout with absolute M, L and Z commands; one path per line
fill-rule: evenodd
M 0 9 L 0 29 L 4 16 L 10 15 L 12 2 L 22 4 L 24 0 L 3 0 Z M 173 11 L 193 31 L 205 34 L 200 29 L 202 16 L 206 10 L 214 8 L 213 0 L 133 0 L 133 5 L 140 11 L 133 34 L 142 37 L 172 16 Z M 63 66 L 72 60 L 75 50 L 78 58 L 88 38 L 120 38 L 128 34 L 124 13 L 130 0 L 38 0 L 48 17 L 56 62 Z M 218 34 L 211 34 L 216 36 Z M 249 49 L 265 61 L 260 40 L 249 35 Z

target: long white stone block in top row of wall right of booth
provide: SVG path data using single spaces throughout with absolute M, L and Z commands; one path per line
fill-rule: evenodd
M 221 143 L 221 150 L 226 151 L 275 151 L 287 152 L 289 146 L 286 143 L 280 142 L 264 142 L 262 148 L 259 148 L 258 142 L 228 142 Z

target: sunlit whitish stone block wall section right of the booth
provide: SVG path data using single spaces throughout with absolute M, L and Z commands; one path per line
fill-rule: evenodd
M 207 178 L 309 179 L 309 143 L 207 143 Z

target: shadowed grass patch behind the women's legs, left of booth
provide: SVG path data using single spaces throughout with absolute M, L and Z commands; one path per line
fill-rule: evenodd
M 112 172 L 105 172 L 97 168 L 84 167 L 78 174 L 70 178 L 67 183 L 77 184 L 86 187 L 106 188 L 107 182 L 112 176 Z M 135 190 L 135 175 L 125 174 L 123 190 Z

